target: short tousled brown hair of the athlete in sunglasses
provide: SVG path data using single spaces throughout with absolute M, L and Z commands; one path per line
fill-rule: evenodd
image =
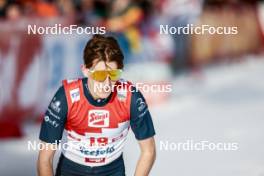
M 83 52 L 86 68 L 93 66 L 95 60 L 117 62 L 119 69 L 124 67 L 124 55 L 114 37 L 96 34 L 90 39 Z

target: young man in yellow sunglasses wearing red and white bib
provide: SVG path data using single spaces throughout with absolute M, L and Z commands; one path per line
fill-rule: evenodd
M 54 146 L 61 139 L 55 175 L 124 176 L 122 152 L 130 127 L 141 149 L 135 176 L 149 174 L 155 131 L 142 94 L 120 79 L 123 59 L 113 37 L 95 35 L 88 41 L 84 78 L 64 80 L 45 113 L 39 139 L 48 149 L 39 151 L 39 176 L 53 175 Z

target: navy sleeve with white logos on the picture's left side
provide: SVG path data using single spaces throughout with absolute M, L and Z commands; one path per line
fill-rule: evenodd
M 59 143 L 67 119 L 67 99 L 64 87 L 61 86 L 52 98 L 45 112 L 39 139 L 47 143 Z

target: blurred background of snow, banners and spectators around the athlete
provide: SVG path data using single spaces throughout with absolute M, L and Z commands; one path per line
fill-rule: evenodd
M 105 26 L 123 77 L 172 85 L 144 92 L 156 128 L 151 176 L 264 176 L 264 2 L 257 0 L 0 0 L 0 175 L 36 175 L 43 114 L 65 78 L 81 77 L 91 35 L 28 35 L 27 25 Z M 160 34 L 160 25 L 236 26 L 236 35 Z M 238 143 L 237 151 L 162 150 L 160 143 Z M 56 158 L 59 155 L 59 152 Z M 139 148 L 125 148 L 133 175 Z M 56 162 L 55 162 L 56 165 Z

